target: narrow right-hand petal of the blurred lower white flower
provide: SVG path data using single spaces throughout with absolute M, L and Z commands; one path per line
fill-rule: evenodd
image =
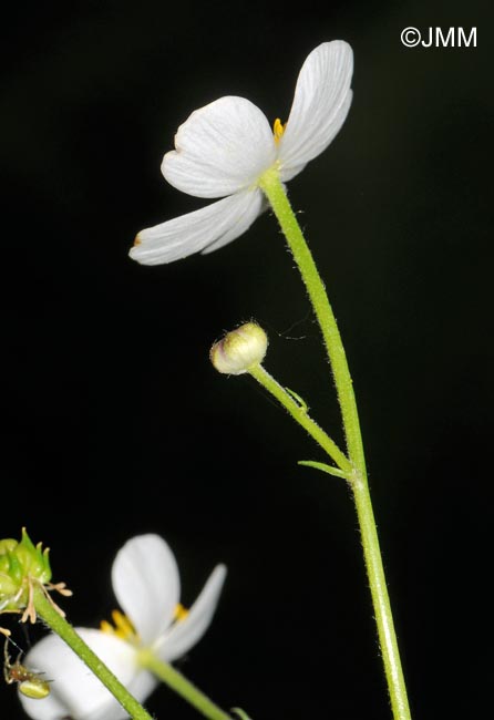
M 226 567 L 217 565 L 187 617 L 178 620 L 159 638 L 155 650 L 162 660 L 171 662 L 187 652 L 206 632 L 218 604 L 226 577 Z

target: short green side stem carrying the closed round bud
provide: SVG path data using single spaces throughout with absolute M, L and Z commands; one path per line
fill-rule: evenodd
M 270 376 L 260 364 L 253 366 L 248 372 L 259 382 L 268 392 L 274 395 L 278 402 L 290 413 L 290 415 L 299 423 L 309 435 L 328 453 L 336 462 L 338 467 L 350 474 L 352 465 L 348 457 L 338 445 L 326 434 L 307 413 L 307 410 L 299 405 L 294 398 Z

